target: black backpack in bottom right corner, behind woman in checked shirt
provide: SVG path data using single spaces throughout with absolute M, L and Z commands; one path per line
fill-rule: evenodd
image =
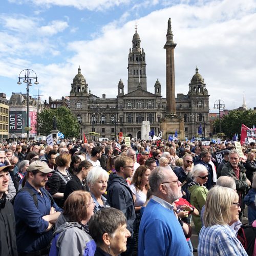
M 237 238 L 243 245 L 247 254 L 251 256 L 253 254 L 256 238 L 256 227 L 252 226 L 252 222 L 244 224 L 240 227 L 240 229 L 238 230 Z

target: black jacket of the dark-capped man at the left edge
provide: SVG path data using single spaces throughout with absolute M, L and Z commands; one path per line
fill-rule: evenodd
M 6 197 L 5 193 L 3 197 Z M 4 198 L 0 200 L 3 202 Z M 17 255 L 14 211 L 7 200 L 5 205 L 0 204 L 0 255 Z

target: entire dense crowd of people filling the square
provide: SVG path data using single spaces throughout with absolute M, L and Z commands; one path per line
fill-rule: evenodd
M 256 227 L 255 143 L 242 151 L 231 142 L 0 143 L 0 255 L 256 255 L 238 235 L 245 205 Z

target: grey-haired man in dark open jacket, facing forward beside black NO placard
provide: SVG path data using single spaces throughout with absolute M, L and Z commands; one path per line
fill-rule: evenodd
M 245 207 L 243 199 L 245 194 L 250 188 L 251 182 L 246 177 L 245 167 L 239 163 L 239 154 L 236 150 L 231 150 L 229 152 L 229 161 L 223 166 L 221 170 L 221 176 L 230 176 L 232 177 L 237 185 L 237 193 L 239 195 L 239 203 L 241 207 L 240 220 L 242 219 L 242 211 Z

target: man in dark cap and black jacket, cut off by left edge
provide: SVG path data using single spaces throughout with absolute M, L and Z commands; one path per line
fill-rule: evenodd
M 0 164 L 0 255 L 17 255 L 15 219 L 12 204 L 6 200 L 11 165 Z

